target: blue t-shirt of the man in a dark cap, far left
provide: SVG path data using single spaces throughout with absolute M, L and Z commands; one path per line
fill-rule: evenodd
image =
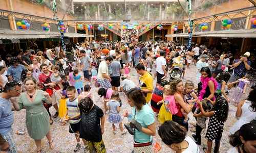
M 22 81 L 22 71 L 25 69 L 24 65 L 19 64 L 16 67 L 12 65 L 8 68 L 7 74 L 11 75 L 14 81 Z

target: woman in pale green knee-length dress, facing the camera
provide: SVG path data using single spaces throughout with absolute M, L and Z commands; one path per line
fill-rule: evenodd
M 37 152 L 41 152 L 41 139 L 45 136 L 53 149 L 53 141 L 50 132 L 49 115 L 44 108 L 44 101 L 51 103 L 52 99 L 47 92 L 36 89 L 36 80 L 26 78 L 24 81 L 26 92 L 18 97 L 18 103 L 13 102 L 16 111 L 25 107 L 26 125 L 29 136 L 35 140 Z

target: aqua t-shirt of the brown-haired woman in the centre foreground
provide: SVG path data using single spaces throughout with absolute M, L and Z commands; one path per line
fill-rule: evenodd
M 142 127 L 147 127 L 155 122 L 153 110 L 148 104 L 145 104 L 140 111 L 136 110 L 136 114 L 135 109 L 135 107 L 132 108 L 132 118 L 138 121 Z M 152 136 L 135 129 L 134 140 L 138 143 L 146 143 L 152 140 Z

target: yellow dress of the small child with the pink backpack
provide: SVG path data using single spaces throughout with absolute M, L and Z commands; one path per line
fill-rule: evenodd
M 163 122 L 167 120 L 173 120 L 173 115 L 169 112 L 167 109 L 169 105 L 169 102 L 167 100 L 164 100 L 163 105 L 161 106 L 159 113 L 158 113 L 158 120 L 162 124 Z

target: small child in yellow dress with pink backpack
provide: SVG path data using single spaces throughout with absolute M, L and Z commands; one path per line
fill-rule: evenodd
M 158 114 L 158 120 L 161 124 L 167 120 L 172 120 L 172 115 L 178 113 L 174 95 L 170 95 L 170 92 L 170 85 L 165 85 L 163 89 L 163 100 L 157 103 L 157 105 L 163 103 Z

